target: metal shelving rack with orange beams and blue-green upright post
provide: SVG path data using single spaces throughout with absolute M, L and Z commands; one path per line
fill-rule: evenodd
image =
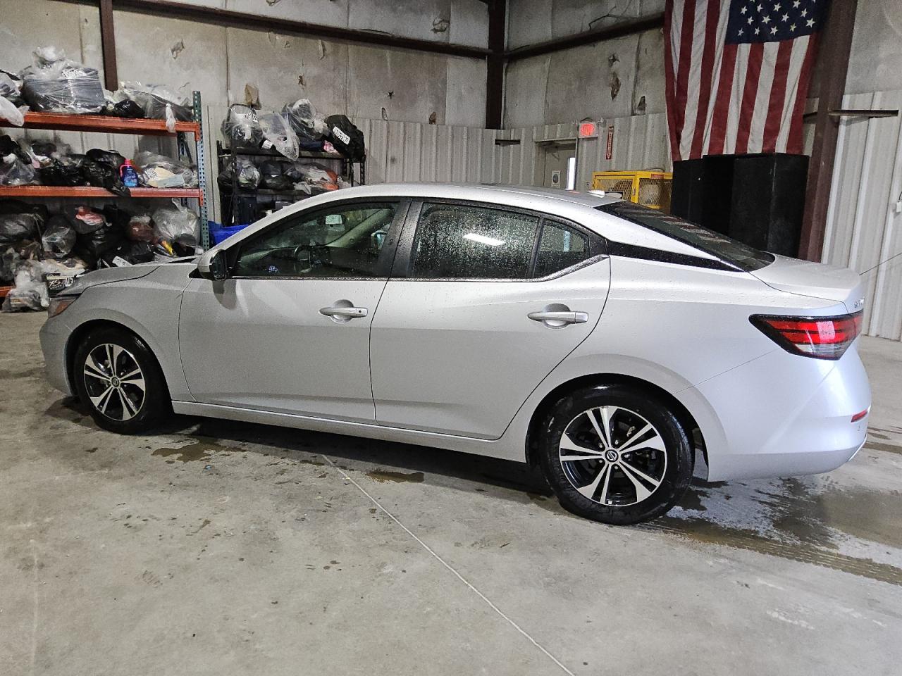
M 56 113 L 26 113 L 25 123 L 16 129 L 49 129 L 59 132 L 101 132 L 125 133 L 141 136 L 176 136 L 178 139 L 179 159 L 185 159 L 187 149 L 186 136 L 194 136 L 195 159 L 198 165 L 198 187 L 133 187 L 129 190 L 133 199 L 143 197 L 172 197 L 177 199 L 197 199 L 200 218 L 201 245 L 204 249 L 210 246 L 210 231 L 207 225 L 207 169 L 204 151 L 204 125 L 201 111 L 200 92 L 194 92 L 192 107 L 195 122 L 177 122 L 175 132 L 166 128 L 164 120 L 133 120 L 124 117 L 107 115 L 69 115 Z M 0 119 L 0 127 L 12 127 L 7 121 Z M 114 195 L 104 187 L 57 187 L 57 186 L 0 186 L 0 198 L 3 197 L 63 197 L 87 199 L 109 197 L 111 199 L 128 199 Z M 0 287 L 0 297 L 4 297 L 9 287 Z

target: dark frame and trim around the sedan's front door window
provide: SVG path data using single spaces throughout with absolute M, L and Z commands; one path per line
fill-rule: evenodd
M 321 207 L 314 207 L 313 209 L 301 209 L 293 214 L 286 215 L 284 218 L 279 219 L 278 221 L 273 221 L 259 233 L 254 233 L 253 236 L 248 237 L 241 242 L 237 242 L 235 246 L 229 247 L 227 251 L 228 256 L 228 266 L 229 270 L 234 270 L 235 265 L 237 264 L 239 256 L 241 256 L 242 251 L 245 247 L 247 247 L 252 242 L 256 241 L 260 237 L 265 236 L 267 233 L 272 233 L 275 228 L 282 227 L 286 224 L 287 221 L 295 221 L 299 218 L 310 218 L 311 216 L 316 216 L 324 212 L 334 211 L 336 209 L 346 209 L 348 207 L 353 207 L 354 205 L 374 205 L 374 204 L 391 204 L 397 205 L 395 209 L 395 215 L 391 219 L 391 225 L 389 225 L 388 237 L 385 240 L 385 243 L 382 247 L 382 251 L 379 253 L 379 260 L 377 262 L 377 269 L 379 274 L 367 277 L 334 277 L 328 275 L 317 275 L 317 276 L 290 276 L 290 275 L 279 275 L 279 276 L 268 276 L 268 275 L 234 275 L 231 279 L 310 279 L 310 280 L 319 280 L 322 281 L 324 279 L 342 279 L 347 281 L 354 280 L 367 280 L 367 279 L 388 279 L 391 275 L 391 266 L 392 262 L 397 254 L 397 245 L 399 241 L 399 233 L 401 231 L 402 225 L 406 223 L 408 212 L 410 211 L 410 198 L 408 197 L 355 197 L 352 199 L 343 199 L 336 200 L 335 202 L 329 202 L 326 205 Z

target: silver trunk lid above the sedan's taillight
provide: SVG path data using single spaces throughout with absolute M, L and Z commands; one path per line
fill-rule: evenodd
M 855 270 L 787 256 L 774 258 L 770 265 L 752 270 L 751 274 L 780 291 L 833 300 L 845 305 L 847 312 L 861 310 L 864 288 Z

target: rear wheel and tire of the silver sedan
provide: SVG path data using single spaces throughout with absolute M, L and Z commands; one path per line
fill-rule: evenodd
M 542 425 L 538 459 L 562 507 L 605 524 L 666 514 L 692 480 L 692 446 L 673 411 L 623 385 L 560 399 Z

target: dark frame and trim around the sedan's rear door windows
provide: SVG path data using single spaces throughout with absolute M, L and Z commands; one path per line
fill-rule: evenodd
M 529 260 L 529 277 L 526 278 L 504 278 L 504 279 L 492 279 L 492 278 L 449 278 L 449 279 L 421 279 L 412 277 L 410 275 L 410 269 L 413 265 L 413 254 L 414 249 L 413 245 L 416 242 L 417 229 L 419 225 L 419 215 L 422 213 L 423 206 L 426 204 L 452 204 L 459 206 L 474 206 L 477 208 L 496 208 L 501 209 L 502 211 L 510 211 L 516 214 L 524 214 L 530 216 L 537 216 L 539 219 L 538 226 L 536 227 L 535 240 L 532 246 L 532 258 Z M 546 275 L 545 277 L 533 277 L 536 268 L 536 259 L 538 255 L 538 247 L 541 242 L 542 230 L 546 224 L 546 222 L 551 224 L 557 224 L 571 230 L 574 230 L 576 233 L 583 234 L 589 242 L 589 256 L 584 260 L 571 265 L 568 268 L 557 270 L 556 272 L 551 273 L 550 275 Z M 390 279 L 405 279 L 409 281 L 460 281 L 460 282 L 511 282 L 511 281 L 519 281 L 519 282 L 541 282 L 547 281 L 548 279 L 556 279 L 558 277 L 563 277 L 570 272 L 574 272 L 577 269 L 584 268 L 588 265 L 592 265 L 593 263 L 598 262 L 599 260 L 603 260 L 608 257 L 607 251 L 607 241 L 604 239 L 602 235 L 599 233 L 595 233 L 594 231 L 589 230 L 581 224 L 574 223 L 573 221 L 569 221 L 566 218 L 562 218 L 560 216 L 549 215 L 543 212 L 532 211 L 530 209 L 522 209 L 517 206 L 507 206 L 507 205 L 496 205 L 492 202 L 474 202 L 470 200 L 463 199 L 449 199 L 449 198 L 416 198 L 411 200 L 410 208 L 407 212 L 407 218 L 404 222 L 403 229 L 400 233 L 400 238 L 398 242 L 398 248 L 395 251 L 394 264 L 391 266 L 391 277 Z

